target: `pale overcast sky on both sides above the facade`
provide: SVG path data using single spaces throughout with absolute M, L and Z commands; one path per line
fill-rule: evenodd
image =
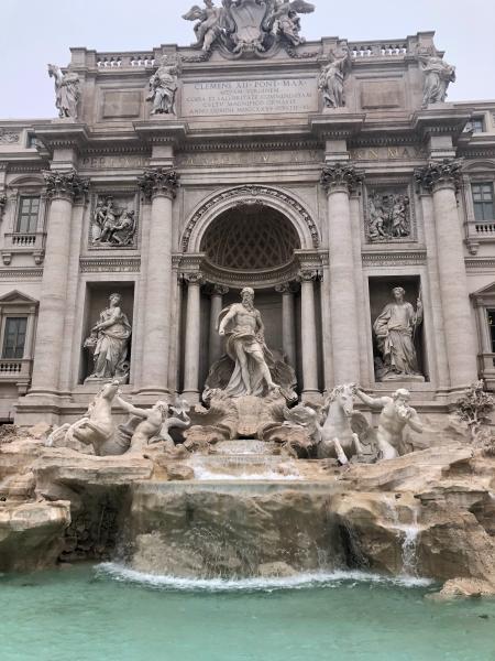
M 435 30 L 458 67 L 450 100 L 495 99 L 495 0 L 312 0 L 302 18 L 308 40 L 402 39 Z M 217 4 L 220 0 L 217 0 Z M 0 118 L 55 117 L 46 64 L 70 59 L 70 46 L 97 51 L 188 45 L 180 17 L 201 0 L 0 0 Z

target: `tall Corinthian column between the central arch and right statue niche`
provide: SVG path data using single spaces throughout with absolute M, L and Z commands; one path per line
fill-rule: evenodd
M 321 174 L 321 184 L 328 195 L 330 319 L 337 384 L 360 381 L 360 324 L 350 195 L 362 181 L 363 175 L 348 163 L 326 165 Z

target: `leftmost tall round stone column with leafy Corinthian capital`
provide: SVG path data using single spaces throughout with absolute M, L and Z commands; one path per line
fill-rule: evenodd
M 51 199 L 45 246 L 40 316 L 30 394 L 56 394 L 59 389 L 61 346 L 67 308 L 67 282 L 73 204 L 87 194 L 89 183 L 76 171 L 44 173 Z

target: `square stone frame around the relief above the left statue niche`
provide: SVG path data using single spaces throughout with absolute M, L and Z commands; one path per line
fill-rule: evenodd
M 95 209 L 97 207 L 98 201 L 105 197 L 112 197 L 116 202 L 116 206 L 121 208 L 125 206 L 128 210 L 134 210 L 135 218 L 135 231 L 134 238 L 131 246 L 109 246 L 108 243 L 103 243 L 101 246 L 95 245 L 91 241 L 91 229 L 92 229 L 92 219 L 95 216 Z M 120 204 L 120 201 L 124 201 L 124 204 Z M 90 253 L 94 252 L 107 252 L 107 253 L 119 253 L 120 251 L 129 252 L 130 250 L 136 251 L 141 248 L 141 195 L 139 191 L 134 187 L 95 187 L 91 192 L 91 202 L 88 205 L 89 216 L 87 219 L 87 230 L 86 230 L 86 250 Z

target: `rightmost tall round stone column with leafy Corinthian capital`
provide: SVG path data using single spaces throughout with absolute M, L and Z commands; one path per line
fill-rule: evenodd
M 460 176 L 461 164 L 453 159 L 431 162 L 416 172 L 418 183 L 433 195 L 444 337 L 453 388 L 468 387 L 477 376 L 463 237 L 455 198 Z

